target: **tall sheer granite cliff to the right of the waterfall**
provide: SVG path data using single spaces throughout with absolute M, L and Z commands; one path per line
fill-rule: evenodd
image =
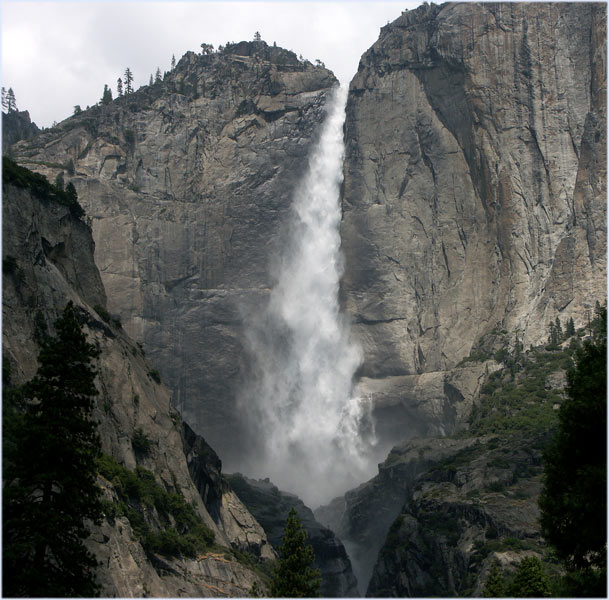
M 605 299 L 605 17 L 599 4 L 425 4 L 362 57 L 342 295 L 361 373 L 394 412 L 430 412 L 404 389 L 494 328 L 528 347 Z M 429 433 L 414 422 L 400 425 Z

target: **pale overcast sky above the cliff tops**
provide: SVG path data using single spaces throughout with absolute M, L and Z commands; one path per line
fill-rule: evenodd
M 419 1 L 105 2 L 2 0 L 2 85 L 39 127 L 95 104 L 126 67 L 134 85 L 201 42 L 262 39 L 322 60 L 343 83 L 379 29 Z

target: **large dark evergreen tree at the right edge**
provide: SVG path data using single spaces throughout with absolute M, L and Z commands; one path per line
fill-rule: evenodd
M 544 454 L 541 525 L 569 573 L 574 595 L 606 593 L 607 310 L 567 374 L 568 398 Z M 578 587 L 579 586 L 579 587 Z M 583 587 L 582 587 L 583 586 Z

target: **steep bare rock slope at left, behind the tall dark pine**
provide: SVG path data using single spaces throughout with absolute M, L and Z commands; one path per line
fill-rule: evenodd
M 3 186 L 2 223 L 3 361 L 11 366 L 13 382 L 34 375 L 40 329 L 51 329 L 72 300 L 90 340 L 101 349 L 93 418 L 99 423 L 103 452 L 129 470 L 151 471 L 163 489 L 181 494 L 213 531 L 218 548 L 228 553 L 208 552 L 192 560 L 146 553 L 125 516 L 108 516 L 89 539 L 104 565 L 98 571 L 102 595 L 243 596 L 255 581 L 264 585 L 229 549 L 272 558 L 266 534 L 220 481 L 213 450 L 182 424 L 141 350 L 116 319 L 108 319 L 90 228 L 65 206 L 43 202 L 12 185 Z M 145 436 L 146 452 L 138 452 L 136 432 Z M 202 473 L 208 474 L 205 486 Z M 101 476 L 99 483 L 106 499 L 116 502 L 114 485 Z

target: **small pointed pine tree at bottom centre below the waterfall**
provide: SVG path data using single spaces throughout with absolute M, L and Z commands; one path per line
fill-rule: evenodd
M 271 581 L 271 594 L 275 598 L 316 598 L 319 596 L 321 577 L 313 569 L 313 548 L 307 543 L 296 511 L 288 515 L 283 539 L 278 549 L 279 559 Z

